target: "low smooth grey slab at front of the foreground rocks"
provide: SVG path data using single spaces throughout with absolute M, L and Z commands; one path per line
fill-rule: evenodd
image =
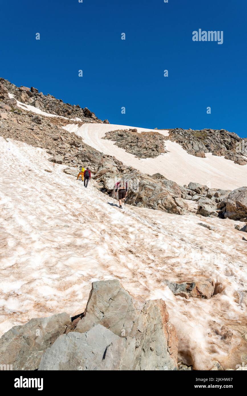
M 129 370 L 134 352 L 135 339 L 97 324 L 86 333 L 61 335 L 42 356 L 39 370 Z

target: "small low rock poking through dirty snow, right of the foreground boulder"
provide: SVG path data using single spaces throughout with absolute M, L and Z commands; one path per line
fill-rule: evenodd
M 209 299 L 213 296 L 215 290 L 215 282 L 211 279 L 179 283 L 165 280 L 163 283 L 171 289 L 174 295 L 185 297 L 186 299 L 190 297 Z

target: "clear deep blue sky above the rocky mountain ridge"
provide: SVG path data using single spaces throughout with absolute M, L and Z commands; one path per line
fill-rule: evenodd
M 12 0 L 1 14 L 0 76 L 17 86 L 112 124 L 247 136 L 246 0 Z M 193 42 L 199 29 L 223 44 Z

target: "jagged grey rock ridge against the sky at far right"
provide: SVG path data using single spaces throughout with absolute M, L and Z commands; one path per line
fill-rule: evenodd
M 239 165 L 247 164 L 247 138 L 225 129 L 169 129 L 165 139 L 179 143 L 189 154 L 205 158 L 205 153 L 224 156 Z M 245 143 L 243 145 L 243 142 Z

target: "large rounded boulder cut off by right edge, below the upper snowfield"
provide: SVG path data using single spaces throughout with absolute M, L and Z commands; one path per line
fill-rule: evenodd
M 240 187 L 230 192 L 226 199 L 224 217 L 240 220 L 247 217 L 247 187 Z

